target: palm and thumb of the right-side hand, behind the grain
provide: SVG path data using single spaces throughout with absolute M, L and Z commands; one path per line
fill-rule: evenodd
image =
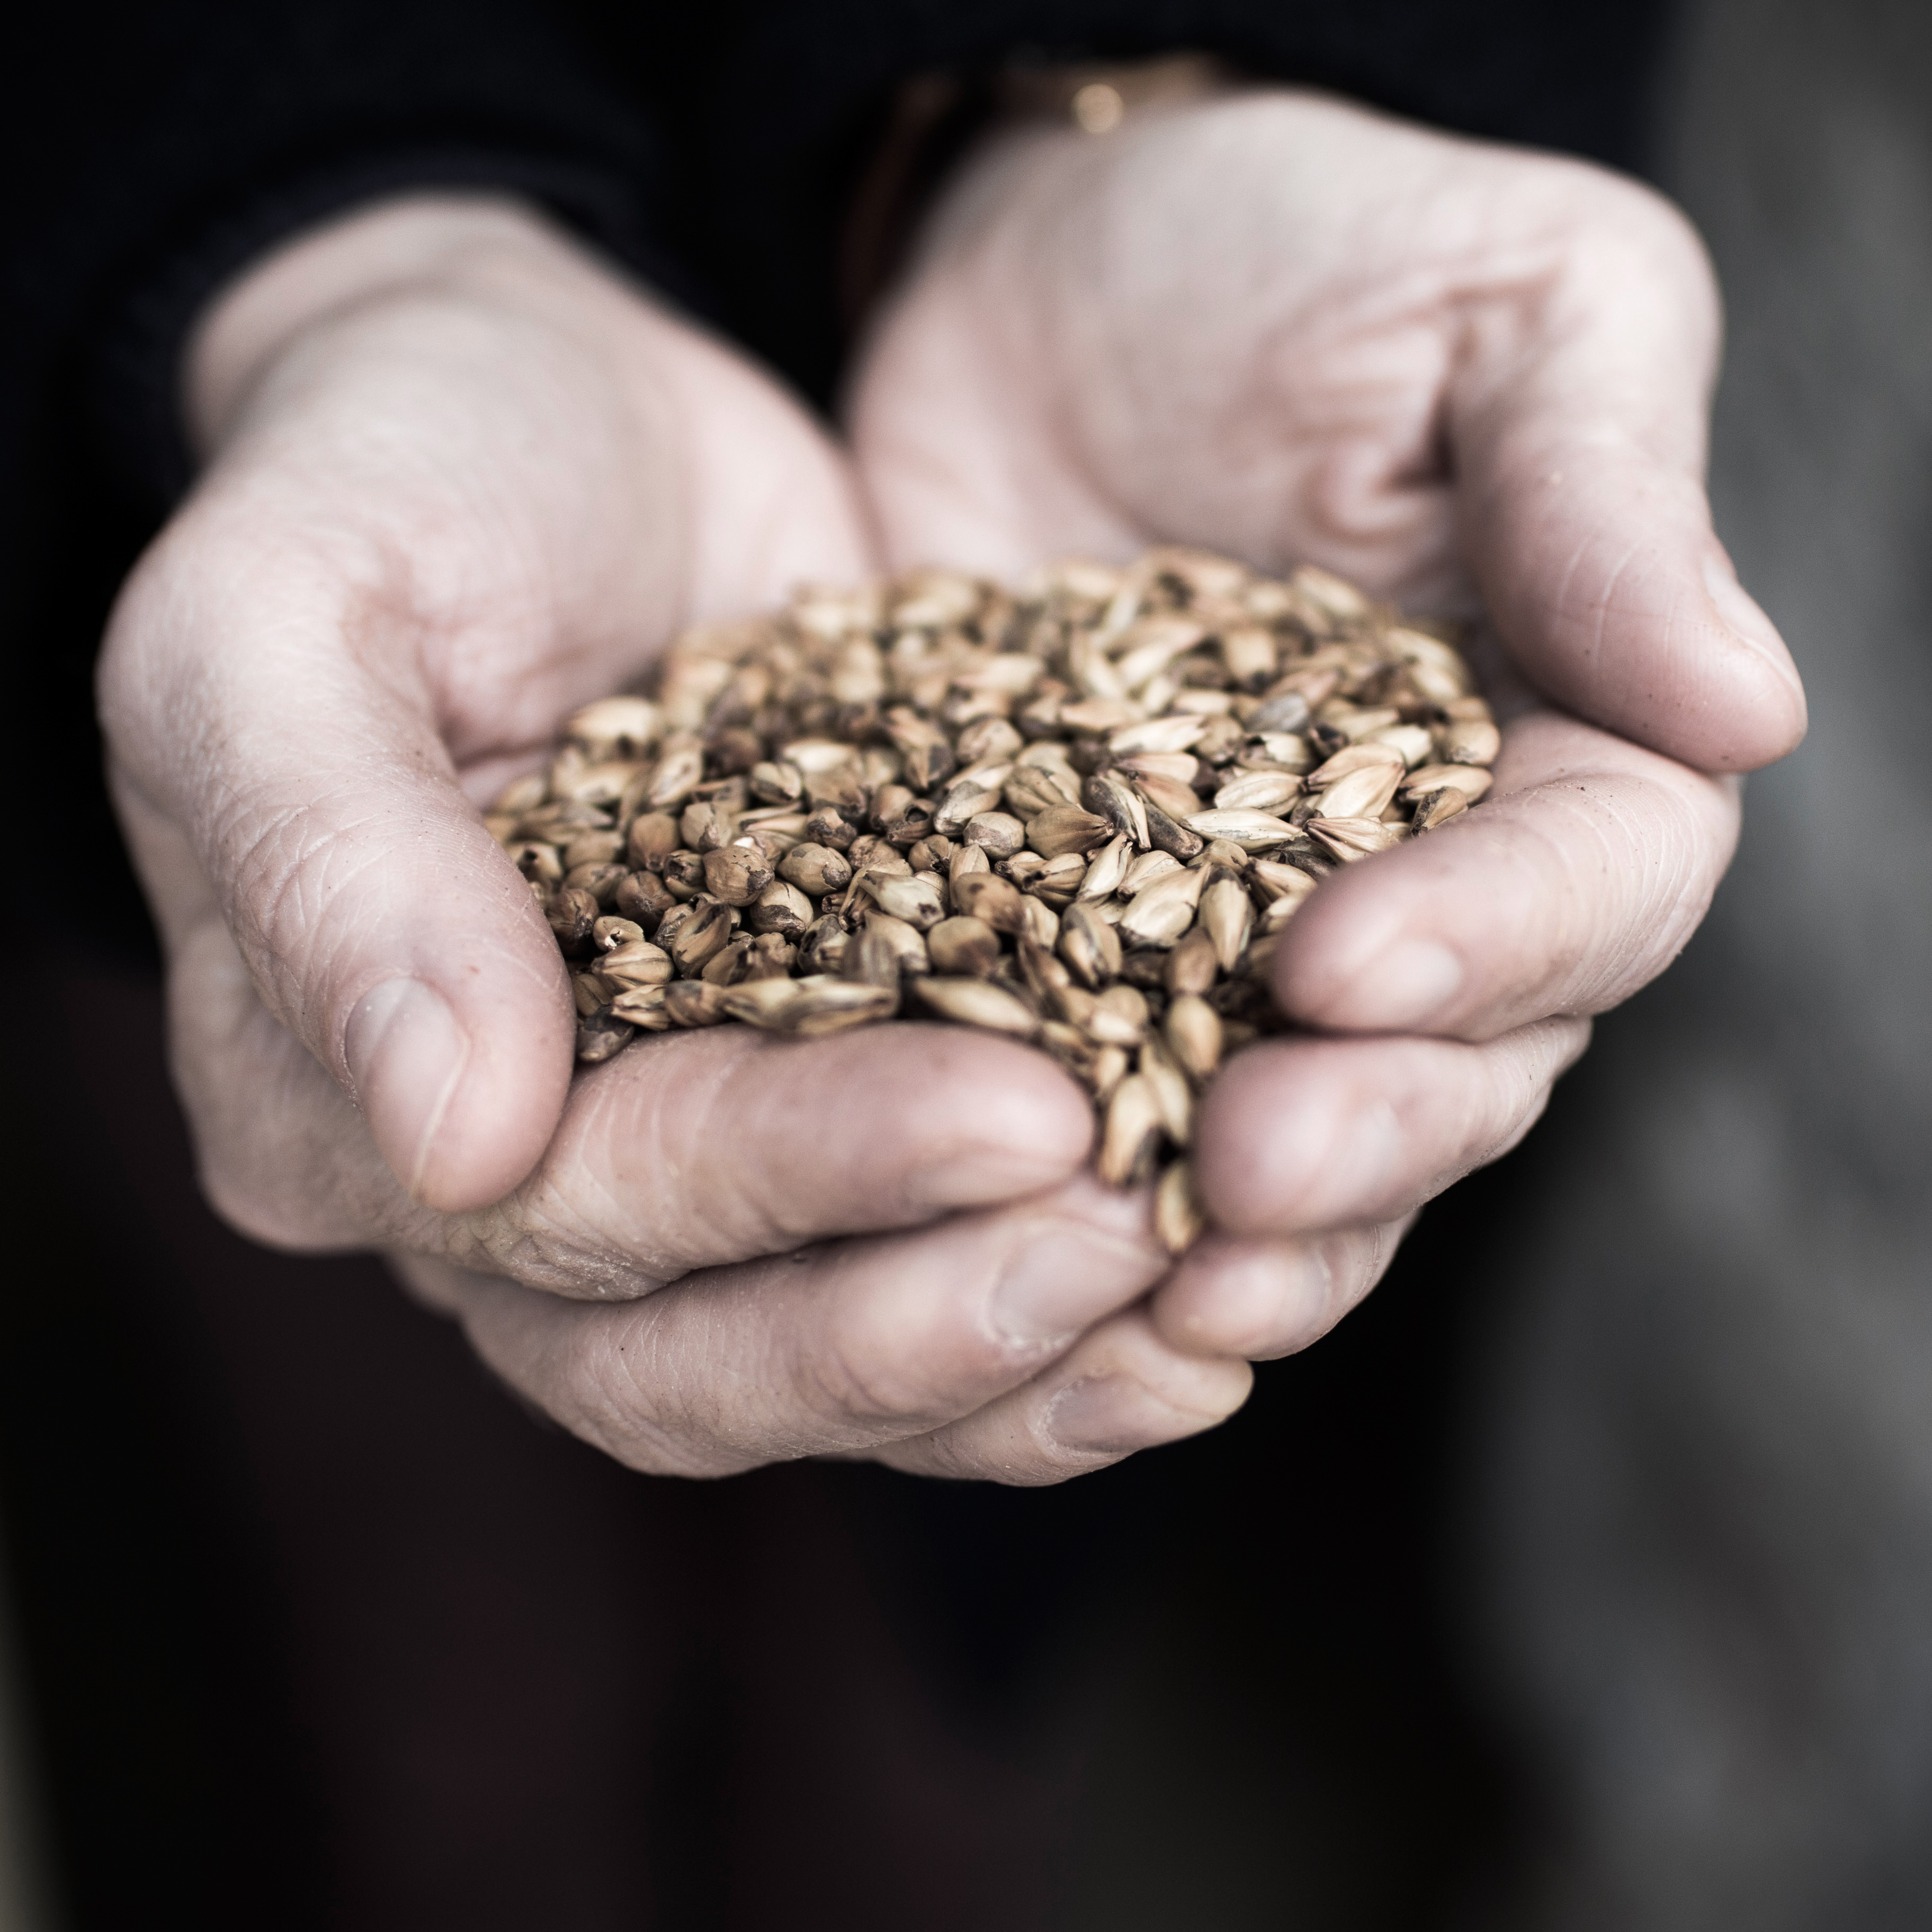
M 1696 242 L 1642 189 L 1258 95 L 983 156 L 852 423 L 895 560 L 1318 558 L 1480 599 L 1571 709 L 1737 769 L 1801 713 L 1706 587 L 1714 348 Z

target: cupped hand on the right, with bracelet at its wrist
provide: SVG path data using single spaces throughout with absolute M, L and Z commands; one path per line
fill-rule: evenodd
M 1198 1122 L 1180 1347 L 1323 1333 L 1420 1202 L 1515 1144 L 1588 1014 L 1681 951 L 1737 773 L 1804 699 L 1712 533 L 1718 299 L 1687 224 L 1580 162 L 1294 91 L 995 139 L 933 213 L 850 394 L 895 566 L 1192 541 L 1488 612 L 1478 811 L 1347 867 Z

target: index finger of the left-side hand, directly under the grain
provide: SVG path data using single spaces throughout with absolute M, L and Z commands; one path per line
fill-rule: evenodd
M 226 927 L 176 943 L 176 1078 L 214 1206 L 290 1248 L 381 1242 L 576 1296 L 829 1235 L 912 1227 L 1074 1175 L 1092 1109 L 1043 1055 L 956 1028 L 643 1039 L 578 1074 L 537 1173 L 444 1217 L 410 1202 L 340 1088 L 255 997 Z

